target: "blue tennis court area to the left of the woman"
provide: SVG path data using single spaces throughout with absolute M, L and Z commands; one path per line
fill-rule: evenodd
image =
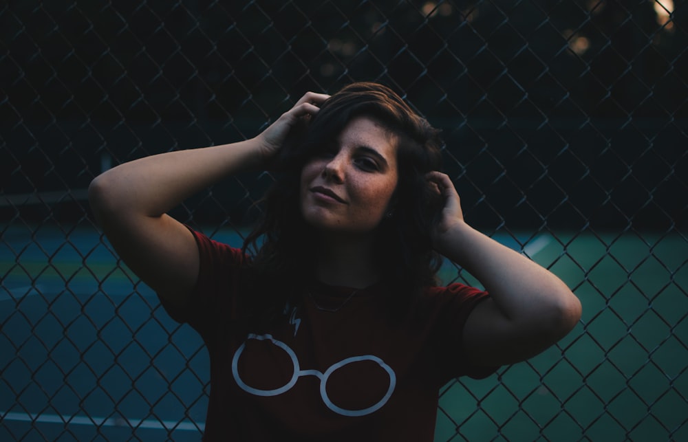
M 199 439 L 202 342 L 95 229 L 7 228 L 2 247 L 0 439 Z

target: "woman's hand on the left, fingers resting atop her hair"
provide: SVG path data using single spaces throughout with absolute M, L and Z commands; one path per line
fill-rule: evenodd
M 283 113 L 277 121 L 270 124 L 268 129 L 256 137 L 261 150 L 261 157 L 264 164 L 279 151 L 284 144 L 289 131 L 292 130 L 300 120 L 311 118 L 320 110 L 321 105 L 329 95 L 325 93 L 307 92 L 292 109 Z

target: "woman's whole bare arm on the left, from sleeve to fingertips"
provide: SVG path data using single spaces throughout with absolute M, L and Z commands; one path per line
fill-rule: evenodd
M 166 213 L 196 192 L 249 168 L 261 168 L 305 115 L 327 96 L 307 93 L 250 140 L 173 151 L 121 164 L 96 177 L 89 203 L 116 252 L 159 296 L 184 305 L 198 275 L 193 235 Z

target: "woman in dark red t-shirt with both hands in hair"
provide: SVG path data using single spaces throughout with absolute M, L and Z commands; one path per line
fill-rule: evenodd
M 581 315 L 559 278 L 477 232 L 438 133 L 393 91 L 306 93 L 255 138 L 138 159 L 89 199 L 121 258 L 208 346 L 204 440 L 431 441 L 438 390 L 547 349 Z M 239 250 L 166 212 L 270 167 Z M 438 254 L 486 291 L 438 287 Z

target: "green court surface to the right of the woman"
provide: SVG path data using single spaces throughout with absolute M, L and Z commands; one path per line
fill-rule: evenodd
M 533 259 L 574 289 L 581 323 L 533 360 L 447 386 L 436 440 L 688 440 L 686 236 L 538 238 Z

